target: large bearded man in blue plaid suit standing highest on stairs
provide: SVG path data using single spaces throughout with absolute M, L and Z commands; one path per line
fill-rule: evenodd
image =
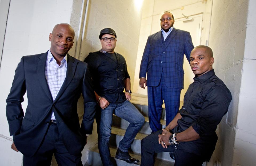
M 162 129 L 163 100 L 166 124 L 177 114 L 183 89 L 183 57 L 185 54 L 189 61 L 194 48 L 190 33 L 173 27 L 174 18 L 170 12 L 164 12 L 160 20 L 162 29 L 148 37 L 139 72 L 139 86 L 144 89 L 148 86 L 149 125 L 152 132 Z

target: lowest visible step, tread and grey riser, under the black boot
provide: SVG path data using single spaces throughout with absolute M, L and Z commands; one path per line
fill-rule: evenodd
M 110 147 L 111 161 L 113 162 L 114 165 L 117 165 L 117 166 L 138 166 L 138 165 L 140 165 L 140 162 L 136 163 L 136 164 L 129 164 L 123 160 L 116 159 L 115 158 L 116 151 L 117 151 L 117 147 Z M 139 159 L 139 161 L 141 161 L 140 154 L 130 152 L 130 151 L 129 151 L 129 154 L 131 155 L 131 157 L 133 157 L 135 159 Z M 87 159 L 86 164 L 93 165 L 93 166 L 102 166 L 102 162 L 101 162 L 101 158 L 99 155 L 99 150 L 98 150 L 97 144 L 94 147 L 89 149 L 88 159 Z M 155 166 L 166 166 L 166 165 L 174 166 L 174 162 L 161 160 L 161 159 L 157 159 L 157 158 L 155 159 Z

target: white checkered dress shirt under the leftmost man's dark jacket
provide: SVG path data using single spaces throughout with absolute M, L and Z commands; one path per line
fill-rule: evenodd
M 48 87 L 53 97 L 53 101 L 61 89 L 61 86 L 66 78 L 67 73 L 67 55 L 62 59 L 59 66 L 56 60 L 53 58 L 50 50 L 48 51 L 47 61 L 45 64 L 45 78 L 47 80 Z M 51 120 L 55 120 L 54 113 L 51 114 Z

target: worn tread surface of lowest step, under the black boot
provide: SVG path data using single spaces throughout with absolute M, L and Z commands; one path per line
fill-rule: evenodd
M 117 149 L 118 149 L 117 147 L 113 147 L 113 146 L 109 147 L 111 157 L 115 158 Z M 91 147 L 89 150 L 99 153 L 97 144 L 95 146 Z M 130 152 L 130 151 L 129 151 L 129 154 L 131 155 L 132 158 L 139 159 L 139 161 L 141 161 L 141 154 Z M 116 159 L 116 160 L 118 160 L 118 159 Z M 141 163 L 139 162 L 139 163 L 135 163 L 134 165 L 140 165 L 140 164 Z M 131 164 L 131 165 L 133 165 L 133 164 Z M 166 165 L 173 166 L 174 162 L 155 158 L 155 166 L 166 166 Z

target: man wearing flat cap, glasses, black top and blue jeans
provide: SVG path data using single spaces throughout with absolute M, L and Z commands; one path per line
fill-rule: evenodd
M 113 165 L 109 150 L 113 114 L 130 123 L 123 139 L 119 142 L 115 156 L 127 163 L 139 162 L 138 159 L 129 155 L 128 149 L 145 121 L 142 114 L 129 101 L 131 100 L 130 76 L 125 58 L 114 52 L 116 38 L 117 35 L 113 29 L 102 29 L 99 35 L 102 49 L 90 53 L 85 58 L 91 72 L 98 104 L 96 109 L 98 148 L 104 166 Z

